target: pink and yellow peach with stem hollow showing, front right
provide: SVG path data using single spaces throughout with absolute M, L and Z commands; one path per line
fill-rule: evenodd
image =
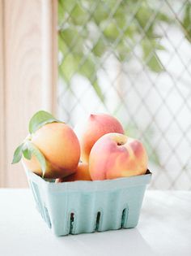
M 116 179 L 146 173 L 148 158 L 142 143 L 120 133 L 108 133 L 91 149 L 92 180 Z

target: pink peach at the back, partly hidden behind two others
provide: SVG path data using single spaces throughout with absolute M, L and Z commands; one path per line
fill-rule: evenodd
M 87 122 L 79 128 L 79 143 L 81 147 L 81 159 L 88 163 L 89 154 L 95 142 L 108 132 L 124 133 L 120 122 L 106 114 L 91 114 Z

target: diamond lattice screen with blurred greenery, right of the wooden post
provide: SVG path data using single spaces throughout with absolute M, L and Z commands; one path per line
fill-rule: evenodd
M 59 115 L 117 116 L 151 189 L 191 189 L 191 2 L 59 0 L 58 45 Z

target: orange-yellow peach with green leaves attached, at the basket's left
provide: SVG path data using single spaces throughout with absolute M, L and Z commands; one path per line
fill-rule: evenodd
M 45 178 L 68 176 L 79 164 L 80 146 L 74 131 L 63 123 L 45 124 L 32 134 L 31 142 L 44 154 L 47 169 Z M 42 175 L 40 163 L 35 156 L 23 158 L 28 169 Z

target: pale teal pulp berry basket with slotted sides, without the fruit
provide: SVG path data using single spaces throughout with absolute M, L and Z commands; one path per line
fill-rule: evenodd
M 56 236 L 134 228 L 151 172 L 115 180 L 54 183 L 25 171 L 40 215 Z

